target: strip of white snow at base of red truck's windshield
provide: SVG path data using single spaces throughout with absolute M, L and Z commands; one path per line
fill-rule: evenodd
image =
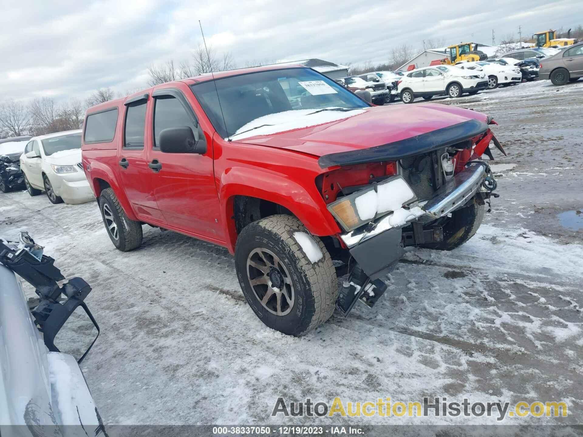
M 326 109 L 334 108 L 335 107 L 329 107 Z M 363 114 L 365 112 L 362 108 L 352 111 L 317 111 L 319 110 L 291 110 L 276 112 L 275 114 L 268 114 L 263 117 L 255 118 L 241 126 L 234 135 L 231 135 L 231 140 L 237 141 L 251 136 L 272 135 L 274 133 L 287 132 L 294 129 L 309 128 L 311 126 L 318 126 L 354 117 L 355 115 Z

